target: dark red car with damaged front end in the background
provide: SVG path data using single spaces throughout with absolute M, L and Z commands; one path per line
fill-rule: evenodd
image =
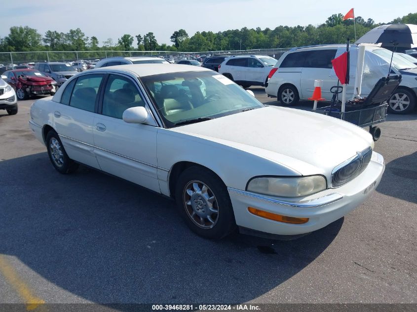
M 54 95 L 56 81 L 35 69 L 13 69 L 3 72 L 6 82 L 16 90 L 19 100 L 39 94 Z

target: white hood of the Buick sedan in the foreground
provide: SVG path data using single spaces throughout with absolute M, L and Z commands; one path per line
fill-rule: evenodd
M 276 106 L 172 130 L 246 149 L 302 174 L 311 173 L 294 167 L 306 163 L 329 176 L 329 171 L 355 156 L 356 152 L 373 147 L 371 135 L 353 124 L 319 113 Z M 300 162 L 288 164 L 288 157 Z

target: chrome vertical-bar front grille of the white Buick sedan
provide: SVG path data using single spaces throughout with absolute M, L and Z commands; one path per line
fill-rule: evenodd
M 340 187 L 361 174 L 372 157 L 372 148 L 368 147 L 346 162 L 343 162 L 332 172 L 332 187 Z

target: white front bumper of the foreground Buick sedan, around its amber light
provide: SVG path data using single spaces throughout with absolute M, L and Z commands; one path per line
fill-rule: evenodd
M 366 170 L 349 183 L 298 201 L 228 188 L 236 224 L 239 227 L 274 235 L 299 235 L 321 229 L 363 203 L 378 186 L 384 169 L 382 156 L 373 152 Z M 309 220 L 304 224 L 277 222 L 250 213 L 248 207 Z

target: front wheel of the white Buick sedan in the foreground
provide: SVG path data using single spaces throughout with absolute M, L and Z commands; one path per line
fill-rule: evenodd
M 175 199 L 188 227 L 199 236 L 220 240 L 236 229 L 226 185 L 205 168 L 194 166 L 181 173 Z

